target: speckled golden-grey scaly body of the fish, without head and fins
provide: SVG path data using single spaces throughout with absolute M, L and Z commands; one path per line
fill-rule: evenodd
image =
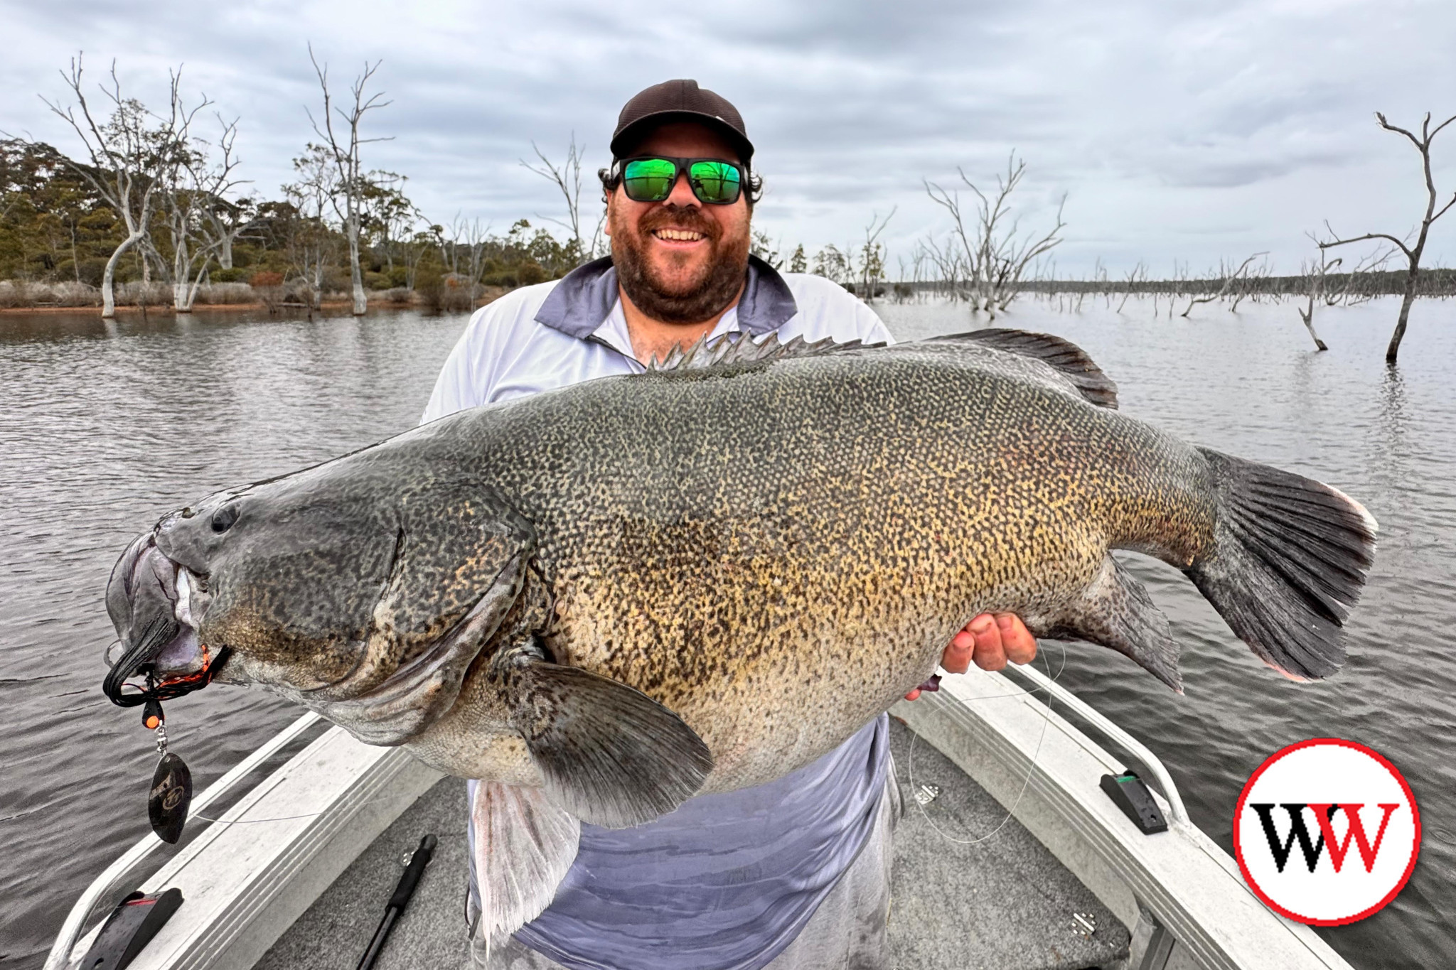
M 475 457 L 536 525 L 558 662 L 677 711 L 713 752 L 705 791 L 731 790 L 833 749 L 977 614 L 1050 627 L 1108 548 L 1188 563 L 1210 541 L 1192 448 L 996 356 L 904 345 L 606 378 L 409 446 L 427 467 Z M 472 675 L 473 700 L 411 746 L 529 781 L 518 739 L 479 745 L 499 723 L 486 694 Z

